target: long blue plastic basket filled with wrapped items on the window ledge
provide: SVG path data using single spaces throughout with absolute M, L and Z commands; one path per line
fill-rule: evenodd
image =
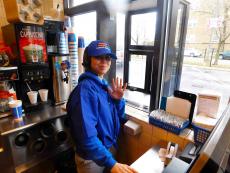
M 188 127 L 189 120 L 185 121 L 181 128 L 173 126 L 173 125 L 165 123 L 165 122 L 162 122 L 162 121 L 157 120 L 151 116 L 149 116 L 149 123 L 179 135 L 182 130 L 184 130 L 186 127 Z

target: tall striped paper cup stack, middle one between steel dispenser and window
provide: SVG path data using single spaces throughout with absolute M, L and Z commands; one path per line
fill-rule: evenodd
M 78 46 L 76 34 L 71 32 L 68 33 L 68 45 L 69 45 L 69 56 L 70 56 L 70 76 L 72 89 L 76 87 L 78 81 Z

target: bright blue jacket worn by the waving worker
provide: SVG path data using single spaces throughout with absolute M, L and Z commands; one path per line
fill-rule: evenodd
M 83 73 L 69 97 L 67 111 L 78 155 L 112 168 L 116 161 L 108 149 L 116 145 L 125 101 L 114 100 L 108 87 L 96 74 Z

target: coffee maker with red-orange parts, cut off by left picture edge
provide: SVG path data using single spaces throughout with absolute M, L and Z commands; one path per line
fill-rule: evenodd
M 11 115 L 8 103 L 11 99 L 17 99 L 15 92 L 17 80 L 17 67 L 0 67 L 0 118 Z

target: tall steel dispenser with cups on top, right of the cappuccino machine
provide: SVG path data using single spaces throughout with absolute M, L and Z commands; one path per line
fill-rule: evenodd
M 65 103 L 71 92 L 70 56 L 64 22 L 45 21 L 47 54 L 52 80 L 49 84 L 55 105 Z

